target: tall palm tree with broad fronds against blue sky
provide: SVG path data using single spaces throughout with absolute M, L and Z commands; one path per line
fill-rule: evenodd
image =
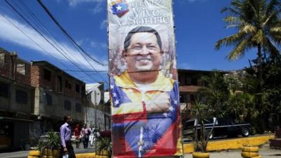
M 224 18 L 226 28 L 234 27 L 237 33 L 216 41 L 215 48 L 234 46 L 228 60 L 241 58 L 246 51 L 257 48 L 258 68 L 261 73 L 262 50 L 272 57 L 279 55 L 281 45 L 281 1 L 280 0 L 233 0 Z M 262 74 L 259 74 L 262 85 Z

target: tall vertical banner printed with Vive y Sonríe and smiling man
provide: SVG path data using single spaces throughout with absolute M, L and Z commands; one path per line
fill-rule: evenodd
M 114 157 L 183 154 L 171 0 L 107 0 Z

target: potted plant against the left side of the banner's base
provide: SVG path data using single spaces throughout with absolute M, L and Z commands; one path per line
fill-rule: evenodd
M 110 131 L 103 131 L 100 133 L 100 141 L 98 142 L 96 154 L 111 157 L 112 141 Z

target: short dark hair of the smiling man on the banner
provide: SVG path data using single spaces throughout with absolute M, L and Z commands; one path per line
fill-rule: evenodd
M 157 39 L 157 44 L 158 44 L 159 48 L 162 50 L 162 41 L 161 41 L 161 38 L 160 38 L 158 32 L 155 29 L 152 29 L 151 27 L 140 26 L 140 27 L 136 27 L 136 28 L 132 29 L 127 34 L 125 41 L 124 41 L 125 51 L 127 51 L 127 48 L 131 44 L 131 37 L 133 36 L 133 34 L 140 33 L 140 32 L 148 32 L 148 33 L 155 34 L 156 39 Z

